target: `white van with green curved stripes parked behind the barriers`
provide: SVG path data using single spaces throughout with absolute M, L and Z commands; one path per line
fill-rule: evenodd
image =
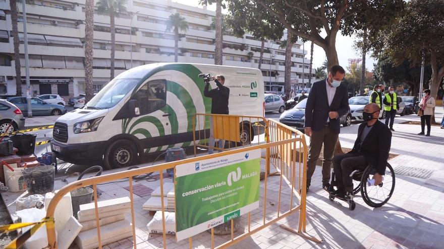
M 210 113 L 201 73 L 225 76 L 230 114 L 263 116 L 264 83 L 259 69 L 187 63 L 134 67 L 110 81 L 83 108 L 57 119 L 51 140 L 58 158 L 76 164 L 125 167 L 142 154 L 188 147 L 196 113 Z M 215 88 L 211 81 L 211 88 Z M 165 91 L 166 90 L 166 91 Z M 246 121 L 244 121 L 246 122 Z M 206 126 L 208 127 L 208 126 Z M 241 137 L 255 135 L 245 129 Z

